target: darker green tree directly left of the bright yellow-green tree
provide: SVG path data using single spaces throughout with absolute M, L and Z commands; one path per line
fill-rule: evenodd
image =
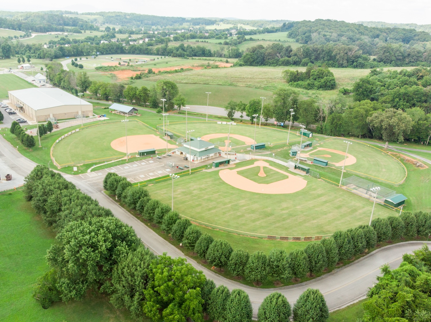
M 144 289 L 148 282 L 148 269 L 156 258 L 144 245 L 127 254 L 112 271 L 112 295 L 110 302 L 117 309 L 127 308 L 135 318 L 142 318 Z

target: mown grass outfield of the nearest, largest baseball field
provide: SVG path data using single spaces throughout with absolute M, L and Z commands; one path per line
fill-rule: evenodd
M 237 167 L 254 162 L 245 161 Z M 372 202 L 324 181 L 309 176 L 304 178 L 307 185 L 297 193 L 262 195 L 226 184 L 218 171 L 201 172 L 175 181 L 175 199 L 178 200 L 175 209 L 195 221 L 217 225 L 221 230 L 225 227 L 245 232 L 242 234 L 315 236 L 368 222 Z M 170 187 L 171 183 L 166 181 L 147 189 L 152 196 L 169 203 Z M 394 215 L 394 212 L 376 206 L 373 216 L 388 215 Z

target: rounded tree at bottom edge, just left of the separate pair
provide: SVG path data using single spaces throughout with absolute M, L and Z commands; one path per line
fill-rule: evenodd
M 249 322 L 253 317 L 248 294 L 238 288 L 232 290 L 231 296 L 226 304 L 226 321 L 229 322 Z

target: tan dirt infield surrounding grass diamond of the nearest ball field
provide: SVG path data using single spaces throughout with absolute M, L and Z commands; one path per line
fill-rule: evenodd
M 271 184 L 258 184 L 250 179 L 238 175 L 237 172 L 240 170 L 253 168 L 259 166 L 261 167 L 261 172 L 263 172 L 263 167 L 275 170 L 286 175 L 288 178 L 280 181 L 273 182 Z M 259 173 L 260 175 L 260 173 Z M 229 170 L 224 169 L 219 172 L 220 178 L 227 184 L 237 189 L 255 192 L 255 193 L 266 193 L 266 194 L 284 194 L 284 193 L 295 193 L 304 189 L 307 185 L 307 181 L 303 178 L 299 178 L 293 173 L 287 173 L 274 168 L 269 165 L 269 163 L 259 160 L 256 161 L 251 166 L 245 166 L 239 169 Z

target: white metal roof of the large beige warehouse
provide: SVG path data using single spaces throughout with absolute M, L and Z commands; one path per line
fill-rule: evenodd
M 9 93 L 33 110 L 64 105 L 93 105 L 59 88 L 28 88 L 9 91 Z

